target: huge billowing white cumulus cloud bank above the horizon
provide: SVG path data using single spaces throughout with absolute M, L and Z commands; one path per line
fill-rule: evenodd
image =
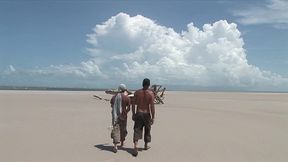
M 144 16 L 119 13 L 96 25 L 87 37 L 89 60 L 35 69 L 33 74 L 74 81 L 77 77 L 79 83 L 100 87 L 119 82 L 139 87 L 144 77 L 190 88 L 268 90 L 288 83 L 249 64 L 237 25 L 226 20 L 201 29 L 190 23 L 178 33 Z

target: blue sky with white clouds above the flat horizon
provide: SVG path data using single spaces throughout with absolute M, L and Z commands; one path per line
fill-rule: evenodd
M 288 0 L 0 0 L 0 86 L 288 91 Z

